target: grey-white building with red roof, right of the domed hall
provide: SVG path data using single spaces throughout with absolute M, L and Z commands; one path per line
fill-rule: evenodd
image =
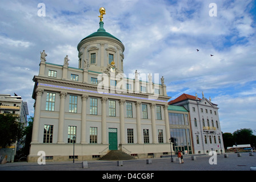
M 182 94 L 169 104 L 183 106 L 189 111 L 194 154 L 209 154 L 210 151 L 221 154 L 221 151 L 225 151 L 219 123 L 219 108 L 210 98 L 208 100 L 203 94 L 202 98 Z

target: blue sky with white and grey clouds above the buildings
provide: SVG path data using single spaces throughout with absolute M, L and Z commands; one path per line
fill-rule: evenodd
M 38 16 L 39 3 L 45 16 Z M 183 93 L 201 98 L 203 91 L 219 106 L 223 133 L 250 128 L 256 134 L 253 0 L 1 0 L 0 93 L 22 96 L 33 115 L 40 51 L 55 64 L 69 55 L 69 66 L 78 67 L 77 44 L 98 30 L 102 6 L 105 30 L 125 45 L 127 75 L 159 73 L 171 100 Z

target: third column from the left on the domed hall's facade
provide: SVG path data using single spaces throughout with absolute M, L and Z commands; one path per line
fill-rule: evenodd
M 81 115 L 81 143 L 86 144 L 86 101 L 88 95 L 82 95 L 82 115 Z

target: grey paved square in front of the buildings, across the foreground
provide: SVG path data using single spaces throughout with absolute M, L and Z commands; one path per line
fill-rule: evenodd
M 82 168 L 82 161 L 73 163 L 46 160 L 46 164 L 41 165 L 27 162 L 0 164 L 0 171 L 250 171 L 250 167 L 256 166 L 255 152 L 253 156 L 249 156 L 249 153 L 241 155 L 238 157 L 237 154 L 230 153 L 228 158 L 217 155 L 217 164 L 209 163 L 209 155 L 195 155 L 196 160 L 191 160 L 191 156 L 184 156 L 183 164 L 179 164 L 178 159 L 170 162 L 170 158 L 154 158 L 151 159 L 151 164 L 147 164 L 146 159 L 124 160 L 122 166 L 117 166 L 117 161 L 89 160 L 89 168 Z

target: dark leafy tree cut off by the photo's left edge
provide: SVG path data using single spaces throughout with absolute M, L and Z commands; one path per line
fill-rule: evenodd
M 23 123 L 18 114 L 0 114 L 0 146 L 6 148 L 23 137 Z

